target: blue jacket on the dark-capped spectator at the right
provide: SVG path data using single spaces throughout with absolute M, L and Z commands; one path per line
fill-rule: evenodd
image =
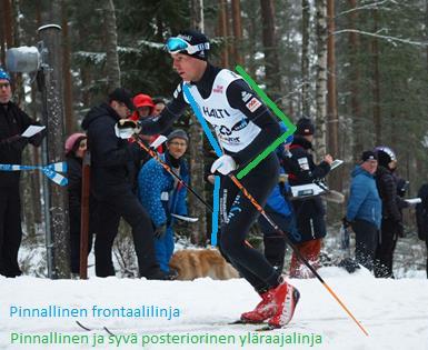
M 382 218 L 382 202 L 380 200 L 376 180 L 372 174 L 357 166 L 352 173 L 350 186 L 347 219 L 365 220 L 380 229 Z

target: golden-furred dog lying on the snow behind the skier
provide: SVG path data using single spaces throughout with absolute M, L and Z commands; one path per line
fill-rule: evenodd
M 169 266 L 178 272 L 177 280 L 191 281 L 196 278 L 210 277 L 213 280 L 238 278 L 238 271 L 215 249 L 178 250 Z

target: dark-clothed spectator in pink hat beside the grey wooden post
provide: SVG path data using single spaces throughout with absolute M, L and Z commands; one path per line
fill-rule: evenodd
M 70 221 L 71 273 L 80 272 L 80 231 L 81 231 L 81 194 L 82 194 L 82 160 L 87 150 L 87 136 L 72 133 L 66 140 L 66 158 L 68 166 L 68 200 Z M 90 201 L 93 211 L 93 200 Z M 91 217 L 91 216 L 90 216 Z M 90 223 L 93 219 L 91 218 Z M 92 226 L 89 228 L 88 254 L 92 248 Z

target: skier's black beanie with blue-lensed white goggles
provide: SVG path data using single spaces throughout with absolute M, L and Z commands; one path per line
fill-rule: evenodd
M 180 44 L 180 40 L 177 39 L 186 41 L 191 47 L 191 49 L 195 49 L 197 51 L 189 52 L 190 48 L 181 48 L 182 44 Z M 186 43 L 183 44 L 186 46 Z M 193 29 L 188 29 L 180 31 L 177 37 L 169 38 L 166 42 L 166 48 L 171 53 L 183 53 L 195 57 L 199 60 L 207 61 L 210 46 L 208 38 L 203 33 Z

